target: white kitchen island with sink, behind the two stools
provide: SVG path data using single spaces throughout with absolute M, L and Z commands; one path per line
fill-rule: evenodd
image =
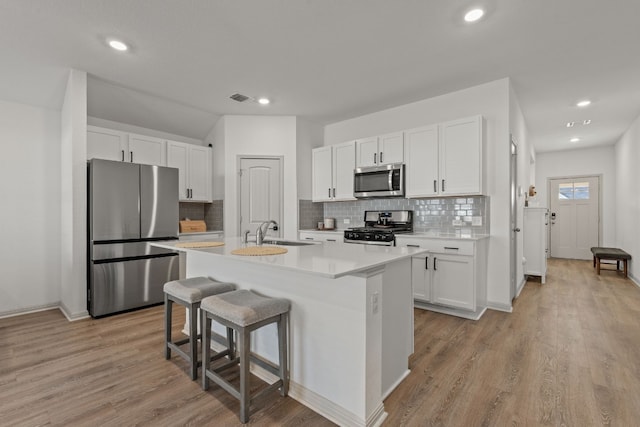
M 383 399 L 409 373 L 411 257 L 421 250 L 336 242 L 276 245 L 288 252 L 239 256 L 231 251 L 247 244 L 221 241 L 223 246 L 202 249 L 156 245 L 186 253 L 187 277 L 208 276 L 289 299 L 289 395 L 340 425 L 380 425 Z M 274 325 L 257 331 L 252 351 L 277 361 L 275 338 Z M 275 380 L 259 367 L 252 372 Z

